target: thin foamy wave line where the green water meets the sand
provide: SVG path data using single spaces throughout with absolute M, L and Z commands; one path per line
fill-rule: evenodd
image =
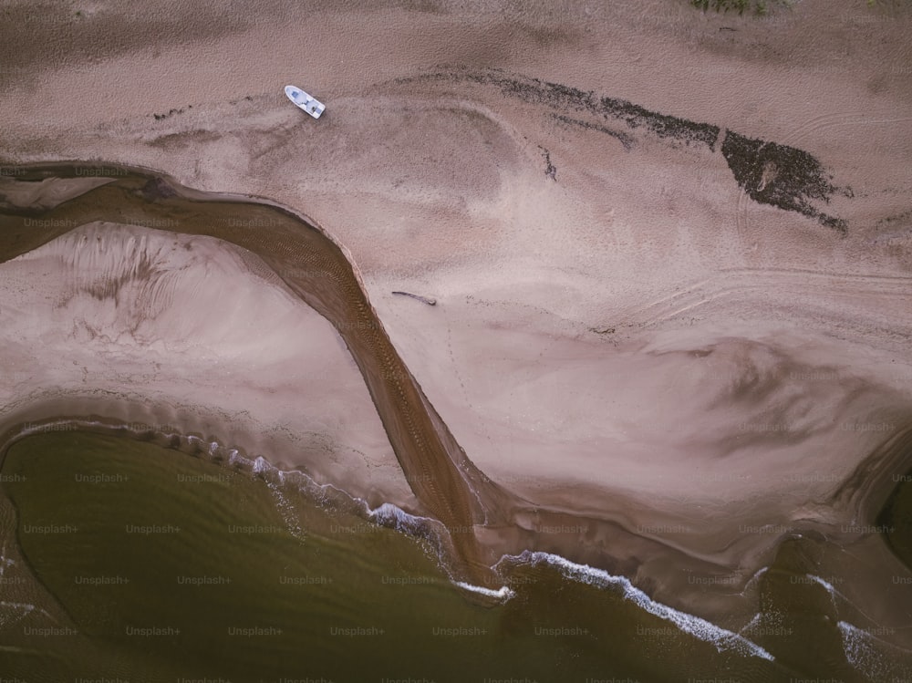
M 5 452 L 12 447 L 18 440 L 27 439 L 40 433 L 48 431 L 67 431 L 80 429 L 84 433 L 97 433 L 104 435 L 113 435 L 119 438 L 129 438 L 141 441 L 152 442 L 161 448 L 169 450 L 178 450 L 184 455 L 193 458 L 202 458 L 213 465 L 238 473 L 242 476 L 252 479 L 259 478 L 267 482 L 273 482 L 279 487 L 279 491 L 285 491 L 286 494 L 298 494 L 304 496 L 306 504 L 313 504 L 317 507 L 324 508 L 334 513 L 355 515 L 369 524 L 377 524 L 380 527 L 393 529 L 399 533 L 405 533 L 412 538 L 430 541 L 430 546 L 434 548 L 437 560 L 440 561 L 440 568 L 445 574 L 448 574 L 449 582 L 455 588 L 461 590 L 462 594 L 470 602 L 482 605 L 487 608 L 497 607 L 509 602 L 515 596 L 514 588 L 523 586 L 526 582 L 523 579 L 525 569 L 533 569 L 539 565 L 547 565 L 554 571 L 563 575 L 568 581 L 581 584 L 592 585 L 596 588 L 606 590 L 609 593 L 623 595 L 624 599 L 633 605 L 653 616 L 668 622 L 668 630 L 662 630 L 662 627 L 643 627 L 643 634 L 669 635 L 678 630 L 688 636 L 696 637 L 704 642 L 710 643 L 718 652 L 734 652 L 743 657 L 760 657 L 770 662 L 777 662 L 778 657 L 772 654 L 762 646 L 763 637 L 765 636 L 791 636 L 793 630 L 787 626 L 751 626 L 756 620 L 750 618 L 750 615 L 741 616 L 741 627 L 732 626 L 731 623 L 720 622 L 717 616 L 701 616 L 699 610 L 682 611 L 679 607 L 669 605 L 649 595 L 648 591 L 637 587 L 627 576 L 623 574 L 612 574 L 605 569 L 582 564 L 574 559 L 565 557 L 562 554 L 532 550 L 525 548 L 522 551 L 511 554 L 504 553 L 498 561 L 492 565 L 494 574 L 502 579 L 503 585 L 499 589 L 491 589 L 485 586 L 472 585 L 463 582 L 457 575 L 451 574 L 450 569 L 453 566 L 452 560 L 456 558 L 455 548 L 449 543 L 449 536 L 445 527 L 440 525 L 436 520 L 425 517 L 416 517 L 408 512 L 403 511 L 398 506 L 384 502 L 378 507 L 371 507 L 363 499 L 352 496 L 351 494 L 339 489 L 333 484 L 318 484 L 303 472 L 283 472 L 268 464 L 262 456 L 255 459 L 240 455 L 236 450 L 228 450 L 217 442 L 207 443 L 199 437 L 192 435 L 179 435 L 176 433 L 158 433 L 152 434 L 149 430 L 133 430 L 136 425 L 117 424 L 114 421 L 103 422 L 99 420 L 80 420 L 80 419 L 47 419 L 39 423 L 33 423 L 30 431 L 22 431 L 12 438 L 7 431 L 4 436 L 3 446 L 0 447 L 0 459 L 5 456 Z M 0 460 L 0 471 L 3 463 Z M 288 476 L 293 475 L 293 476 Z M 298 475 L 298 476 L 294 476 Z M 218 479 L 221 475 L 211 475 L 212 481 L 223 481 Z M 194 480 L 195 481 L 195 480 Z M 280 493 L 282 495 L 282 493 Z M 295 505 L 293 502 L 292 505 Z M 295 526 L 294 520 L 285 520 L 286 524 Z M 332 530 L 332 527 L 330 526 Z M 63 530 L 66 531 L 66 530 Z M 135 533 L 154 533 L 145 532 L 143 529 L 134 530 Z M 338 529 L 336 531 L 339 531 Z M 57 530 L 46 531 L 42 533 L 62 533 Z M 295 534 L 295 529 L 289 528 L 289 532 Z M 244 533 L 244 530 L 237 531 Z M 250 532 L 254 533 L 254 532 Z M 358 533 L 368 533 L 368 529 L 358 530 Z M 427 552 L 427 546 L 426 551 Z M 504 566 L 506 570 L 500 567 Z M 726 589 L 741 587 L 741 595 L 745 595 L 747 587 L 754 584 L 759 576 L 762 576 L 769 567 L 763 567 L 757 573 L 753 574 L 747 581 L 746 585 L 735 584 L 731 580 L 704 579 L 697 580 L 697 577 L 690 576 L 689 584 L 699 584 L 704 590 L 710 585 L 725 585 Z M 519 574 L 516 574 L 519 570 Z M 514 575 L 515 574 L 515 575 Z M 813 586 L 823 585 L 826 590 L 833 595 L 834 599 L 840 595 L 834 589 L 833 583 L 843 587 L 845 579 L 836 575 L 830 575 L 828 580 L 824 580 L 816 575 L 793 574 L 789 576 L 788 582 L 791 585 Z M 912 581 L 912 578 L 909 579 Z M 408 582 L 402 581 L 401 585 Z M 417 585 L 424 585 L 424 580 L 416 580 Z M 731 613 L 730 615 L 731 616 Z M 896 636 L 896 628 L 889 626 L 878 626 L 876 628 L 861 628 L 854 626 L 845 621 L 840 626 L 844 631 L 851 630 L 856 637 L 862 638 L 879 638 L 883 636 Z M 637 628 L 639 628 L 637 626 Z M 672 630 L 674 629 L 674 630 Z M 744 631 L 748 633 L 745 635 Z M 74 632 L 75 633 L 75 632 Z M 640 633 L 637 630 L 637 633 Z M 756 636 L 760 636 L 757 639 Z M 874 641 L 872 641 L 874 642 Z M 888 640 L 886 642 L 889 642 Z M 845 647 L 849 647 L 847 644 Z

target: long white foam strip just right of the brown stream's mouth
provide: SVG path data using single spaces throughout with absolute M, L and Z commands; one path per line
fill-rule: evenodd
M 756 643 L 752 643 L 744 636 L 711 624 L 706 619 L 699 616 L 693 616 L 677 609 L 662 605 L 650 598 L 648 595 L 631 584 L 626 576 L 614 576 L 608 574 L 603 569 L 596 569 L 588 564 L 575 564 L 569 560 L 550 553 L 534 553 L 529 550 L 523 551 L 519 555 L 507 555 L 506 558 L 516 560 L 523 564 L 549 564 L 560 570 L 561 574 L 568 579 L 578 581 L 587 585 L 594 585 L 598 588 L 615 588 L 623 592 L 624 597 L 637 606 L 646 610 L 649 614 L 658 616 L 677 626 L 681 631 L 689 633 L 691 636 L 700 638 L 700 640 L 710 643 L 717 650 L 734 650 L 742 655 L 751 657 L 761 657 L 769 661 L 775 661 L 775 657 L 764 650 Z M 502 560 L 503 562 L 503 560 Z M 500 564 L 500 563 L 498 563 Z

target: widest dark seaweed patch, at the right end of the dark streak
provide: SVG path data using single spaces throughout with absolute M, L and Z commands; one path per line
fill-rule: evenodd
M 829 203 L 836 188 L 820 162 L 804 150 L 726 131 L 722 156 L 735 181 L 754 201 L 816 218 L 828 228 L 846 232 L 845 221 L 819 212 L 811 200 Z

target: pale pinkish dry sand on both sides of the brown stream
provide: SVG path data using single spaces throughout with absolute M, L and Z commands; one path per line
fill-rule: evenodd
M 177 3 L 130 18 L 14 3 L 30 40 L 0 48 L 2 152 L 140 165 L 313 216 L 471 461 L 531 507 L 588 520 L 545 549 L 616 557 L 658 599 L 710 612 L 662 557 L 743 583 L 795 528 L 869 544 L 840 529 L 870 523 L 890 475 L 912 466 L 891 452 L 876 485 L 853 476 L 912 424 L 912 22 L 907 7 L 858 5 L 760 20 L 672 0 L 263 3 L 223 21 Z M 720 136 L 661 138 L 544 97 L 534 78 Z M 324 118 L 291 107 L 285 83 L 325 101 Z M 726 130 L 811 153 L 835 188 L 814 207 L 845 232 L 751 200 Z M 67 260 L 71 241 L 102 229 L 112 262 L 162 259 L 155 286 L 171 299 L 154 324 L 131 328 L 130 298 L 72 294 L 98 265 Z M 420 510 L 387 476 L 389 442 L 332 328 L 249 271 L 224 243 L 99 225 L 0 266 L 16 378 L 3 413 L 24 396 L 127 387 L 216 438 L 249 415 L 246 450 Z M 325 368 L 332 380 L 310 391 Z M 586 531 L 598 520 L 670 555 L 612 547 Z M 544 543 L 550 523 L 523 524 Z M 504 549 L 523 543 L 508 536 Z

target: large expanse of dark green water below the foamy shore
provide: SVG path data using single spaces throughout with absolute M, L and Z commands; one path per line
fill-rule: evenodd
M 7 678 L 789 679 L 550 567 L 514 567 L 515 597 L 476 605 L 428 543 L 149 443 L 46 433 L 3 472 L 18 546 L 53 596 L 37 606 L 79 632 L 0 647 Z

